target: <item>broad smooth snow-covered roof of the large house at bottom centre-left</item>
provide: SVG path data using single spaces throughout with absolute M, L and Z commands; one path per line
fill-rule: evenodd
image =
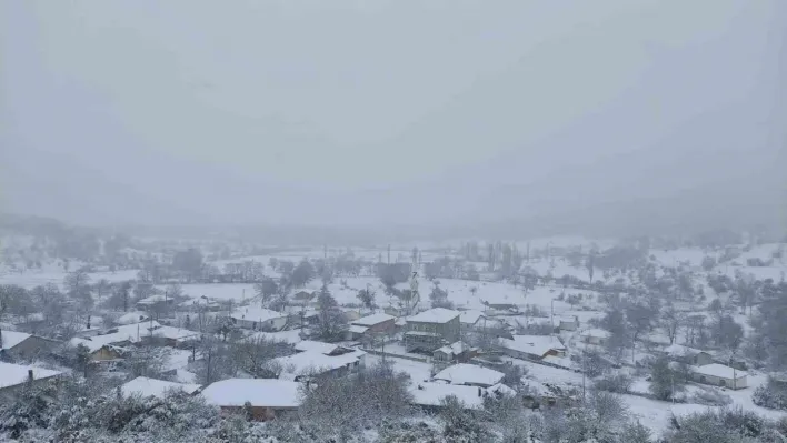
M 300 383 L 272 379 L 229 379 L 216 382 L 202 391 L 208 404 L 217 406 L 298 407 Z

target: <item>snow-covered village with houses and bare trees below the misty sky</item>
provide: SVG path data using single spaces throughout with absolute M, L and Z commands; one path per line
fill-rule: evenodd
M 66 232 L 3 238 L 7 439 L 779 441 L 787 420 L 786 242 Z

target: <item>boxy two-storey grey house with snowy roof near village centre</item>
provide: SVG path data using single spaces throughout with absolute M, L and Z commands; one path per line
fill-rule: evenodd
M 435 352 L 448 343 L 459 341 L 459 311 L 432 308 L 407 319 L 405 348 L 407 352 Z

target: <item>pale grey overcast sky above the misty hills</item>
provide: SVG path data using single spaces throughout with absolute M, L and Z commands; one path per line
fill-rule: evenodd
M 2 1 L 2 205 L 363 224 L 778 204 L 780 3 Z

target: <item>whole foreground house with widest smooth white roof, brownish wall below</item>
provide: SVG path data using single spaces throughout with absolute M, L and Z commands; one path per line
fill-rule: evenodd
M 272 379 L 229 379 L 212 383 L 202 391 L 208 404 L 223 414 L 241 412 L 247 403 L 257 421 L 268 421 L 301 403 L 301 383 Z

